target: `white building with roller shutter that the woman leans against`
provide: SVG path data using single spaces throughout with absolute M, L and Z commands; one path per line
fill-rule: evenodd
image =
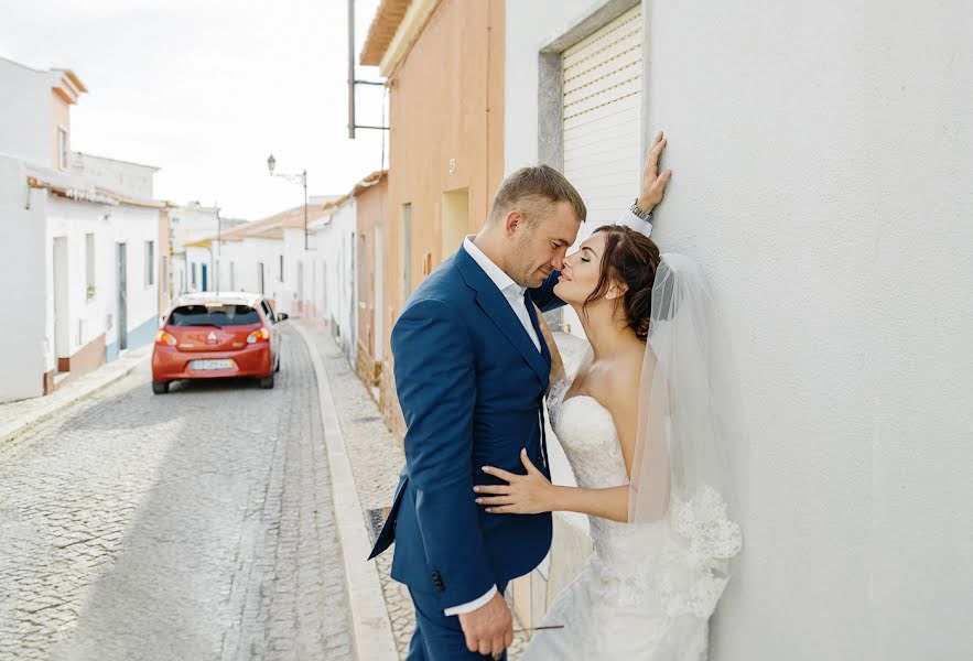
M 584 236 L 664 130 L 655 238 L 729 327 L 745 550 L 713 659 L 973 658 L 971 26 L 960 0 L 507 3 L 506 171 L 562 169 Z

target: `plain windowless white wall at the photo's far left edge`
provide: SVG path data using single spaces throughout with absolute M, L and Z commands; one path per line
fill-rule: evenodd
M 29 192 L 18 161 L 0 158 L 0 282 L 9 316 L 0 325 L 0 402 L 43 393 L 45 197 Z

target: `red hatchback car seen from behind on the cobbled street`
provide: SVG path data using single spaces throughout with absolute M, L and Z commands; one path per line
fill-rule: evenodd
M 152 392 L 177 379 L 256 377 L 273 388 L 280 369 L 280 330 L 288 315 L 273 314 L 260 294 L 203 292 L 176 299 L 155 335 Z

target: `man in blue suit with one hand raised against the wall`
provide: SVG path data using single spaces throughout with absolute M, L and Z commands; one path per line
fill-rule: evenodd
M 641 191 L 619 223 L 646 231 L 669 172 L 656 139 Z M 651 165 L 651 166 L 650 166 Z M 553 310 L 558 270 L 585 205 L 548 165 L 500 185 L 489 218 L 412 293 L 392 329 L 406 467 L 369 560 L 397 541 L 392 578 L 415 606 L 410 661 L 502 654 L 513 639 L 509 581 L 551 545 L 551 514 L 487 514 L 474 485 L 489 465 L 522 474 L 521 448 L 549 479 L 543 399 L 551 356 L 534 304 Z M 647 234 L 647 231 L 646 231 Z

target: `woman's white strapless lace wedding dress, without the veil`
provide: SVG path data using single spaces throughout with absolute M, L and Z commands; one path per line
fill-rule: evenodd
M 548 395 L 551 425 L 580 487 L 628 484 L 612 414 L 597 400 Z M 709 619 L 742 545 L 726 502 L 710 487 L 672 498 L 669 514 L 631 525 L 588 517 L 594 553 L 554 599 L 525 661 L 561 659 L 702 661 Z

